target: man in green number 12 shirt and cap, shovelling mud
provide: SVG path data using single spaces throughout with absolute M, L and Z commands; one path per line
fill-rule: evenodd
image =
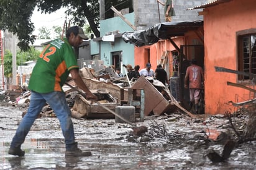
M 91 155 L 91 152 L 83 152 L 77 147 L 78 143 L 75 142 L 73 122 L 71 121 L 71 111 L 62 90 L 68 75 L 71 74 L 76 85 L 85 91 L 86 99 L 97 100 L 97 97 L 89 91 L 85 82 L 81 79 L 72 48 L 72 46 L 78 48 L 83 39 L 88 39 L 88 37 L 82 28 L 74 26 L 66 30 L 66 38 L 53 40 L 43 49 L 29 80 L 29 90 L 31 91 L 29 109 L 12 138 L 9 154 L 25 155 L 25 152 L 21 150 L 21 145 L 24 143 L 37 115 L 47 102 L 60 121 L 62 134 L 65 138 L 65 156 Z

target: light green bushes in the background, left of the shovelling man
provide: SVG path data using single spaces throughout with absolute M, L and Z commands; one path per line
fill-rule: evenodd
M 30 48 L 29 51 L 19 51 L 16 55 L 17 66 L 21 66 L 26 61 L 37 60 L 39 55 L 40 51 L 34 47 Z M 8 50 L 4 54 L 4 75 L 12 77 L 12 53 Z

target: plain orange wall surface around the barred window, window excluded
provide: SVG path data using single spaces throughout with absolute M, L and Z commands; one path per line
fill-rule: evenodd
M 255 0 L 233 0 L 204 11 L 205 113 L 234 111 L 228 101 L 249 100 L 249 91 L 227 86 L 237 83 L 237 75 L 215 72 L 214 66 L 237 70 L 236 35 L 240 30 L 256 28 Z

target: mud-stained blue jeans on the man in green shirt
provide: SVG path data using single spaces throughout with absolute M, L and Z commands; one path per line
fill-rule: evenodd
M 46 101 L 50 104 L 60 121 L 62 134 L 65 138 L 66 149 L 76 147 L 77 144 L 75 143 L 71 111 L 66 103 L 65 93 L 61 91 L 53 91 L 50 93 L 37 93 L 35 91 L 31 91 L 29 109 L 19 124 L 16 134 L 12 138 L 11 148 L 21 147 L 21 144 L 24 143 L 30 127 L 34 123 L 43 106 L 45 106 Z

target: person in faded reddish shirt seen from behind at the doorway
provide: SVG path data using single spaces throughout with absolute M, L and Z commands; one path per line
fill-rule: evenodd
M 192 59 L 191 66 L 186 69 L 185 88 L 190 88 L 190 109 L 194 105 L 194 111 L 198 114 L 198 103 L 200 92 L 203 88 L 204 72 L 202 67 L 196 65 L 196 60 Z

